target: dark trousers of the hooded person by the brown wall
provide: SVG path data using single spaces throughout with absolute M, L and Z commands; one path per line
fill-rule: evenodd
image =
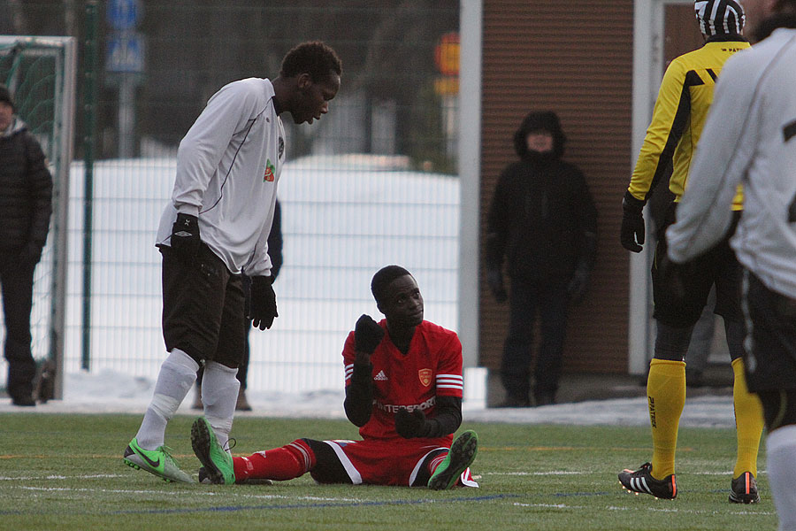
M 567 307 L 565 283 L 512 279 L 509 291 L 509 335 L 503 345 L 501 378 L 510 398 L 528 400 L 531 383 L 533 326 L 540 319 L 541 342 L 534 371 L 534 396 L 552 398 L 561 377 Z

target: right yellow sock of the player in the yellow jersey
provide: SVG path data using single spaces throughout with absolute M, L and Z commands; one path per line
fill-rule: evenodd
M 735 430 L 738 435 L 738 459 L 732 477 L 751 472 L 757 477 L 757 450 L 764 424 L 760 398 L 746 388 L 743 358 L 732 360 L 735 383 L 732 386 L 732 402 L 735 404 Z

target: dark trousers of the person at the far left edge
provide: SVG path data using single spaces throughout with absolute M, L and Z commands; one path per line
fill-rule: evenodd
M 8 361 L 8 394 L 25 398 L 33 393 L 36 362 L 30 351 L 30 312 L 33 306 L 34 265 L 0 257 L 3 288 L 5 359 Z

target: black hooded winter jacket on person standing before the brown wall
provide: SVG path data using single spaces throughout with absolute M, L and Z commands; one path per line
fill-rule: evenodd
M 553 135 L 553 150 L 527 149 L 534 130 Z M 501 173 L 486 227 L 486 266 L 524 281 L 570 281 L 593 266 L 597 211 L 583 173 L 563 162 L 566 138 L 555 112 L 531 112 L 514 135 L 520 160 Z

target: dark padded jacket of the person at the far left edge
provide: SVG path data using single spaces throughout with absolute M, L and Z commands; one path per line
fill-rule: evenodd
M 0 133 L 0 253 L 39 250 L 47 241 L 52 176 L 42 148 L 20 119 Z

